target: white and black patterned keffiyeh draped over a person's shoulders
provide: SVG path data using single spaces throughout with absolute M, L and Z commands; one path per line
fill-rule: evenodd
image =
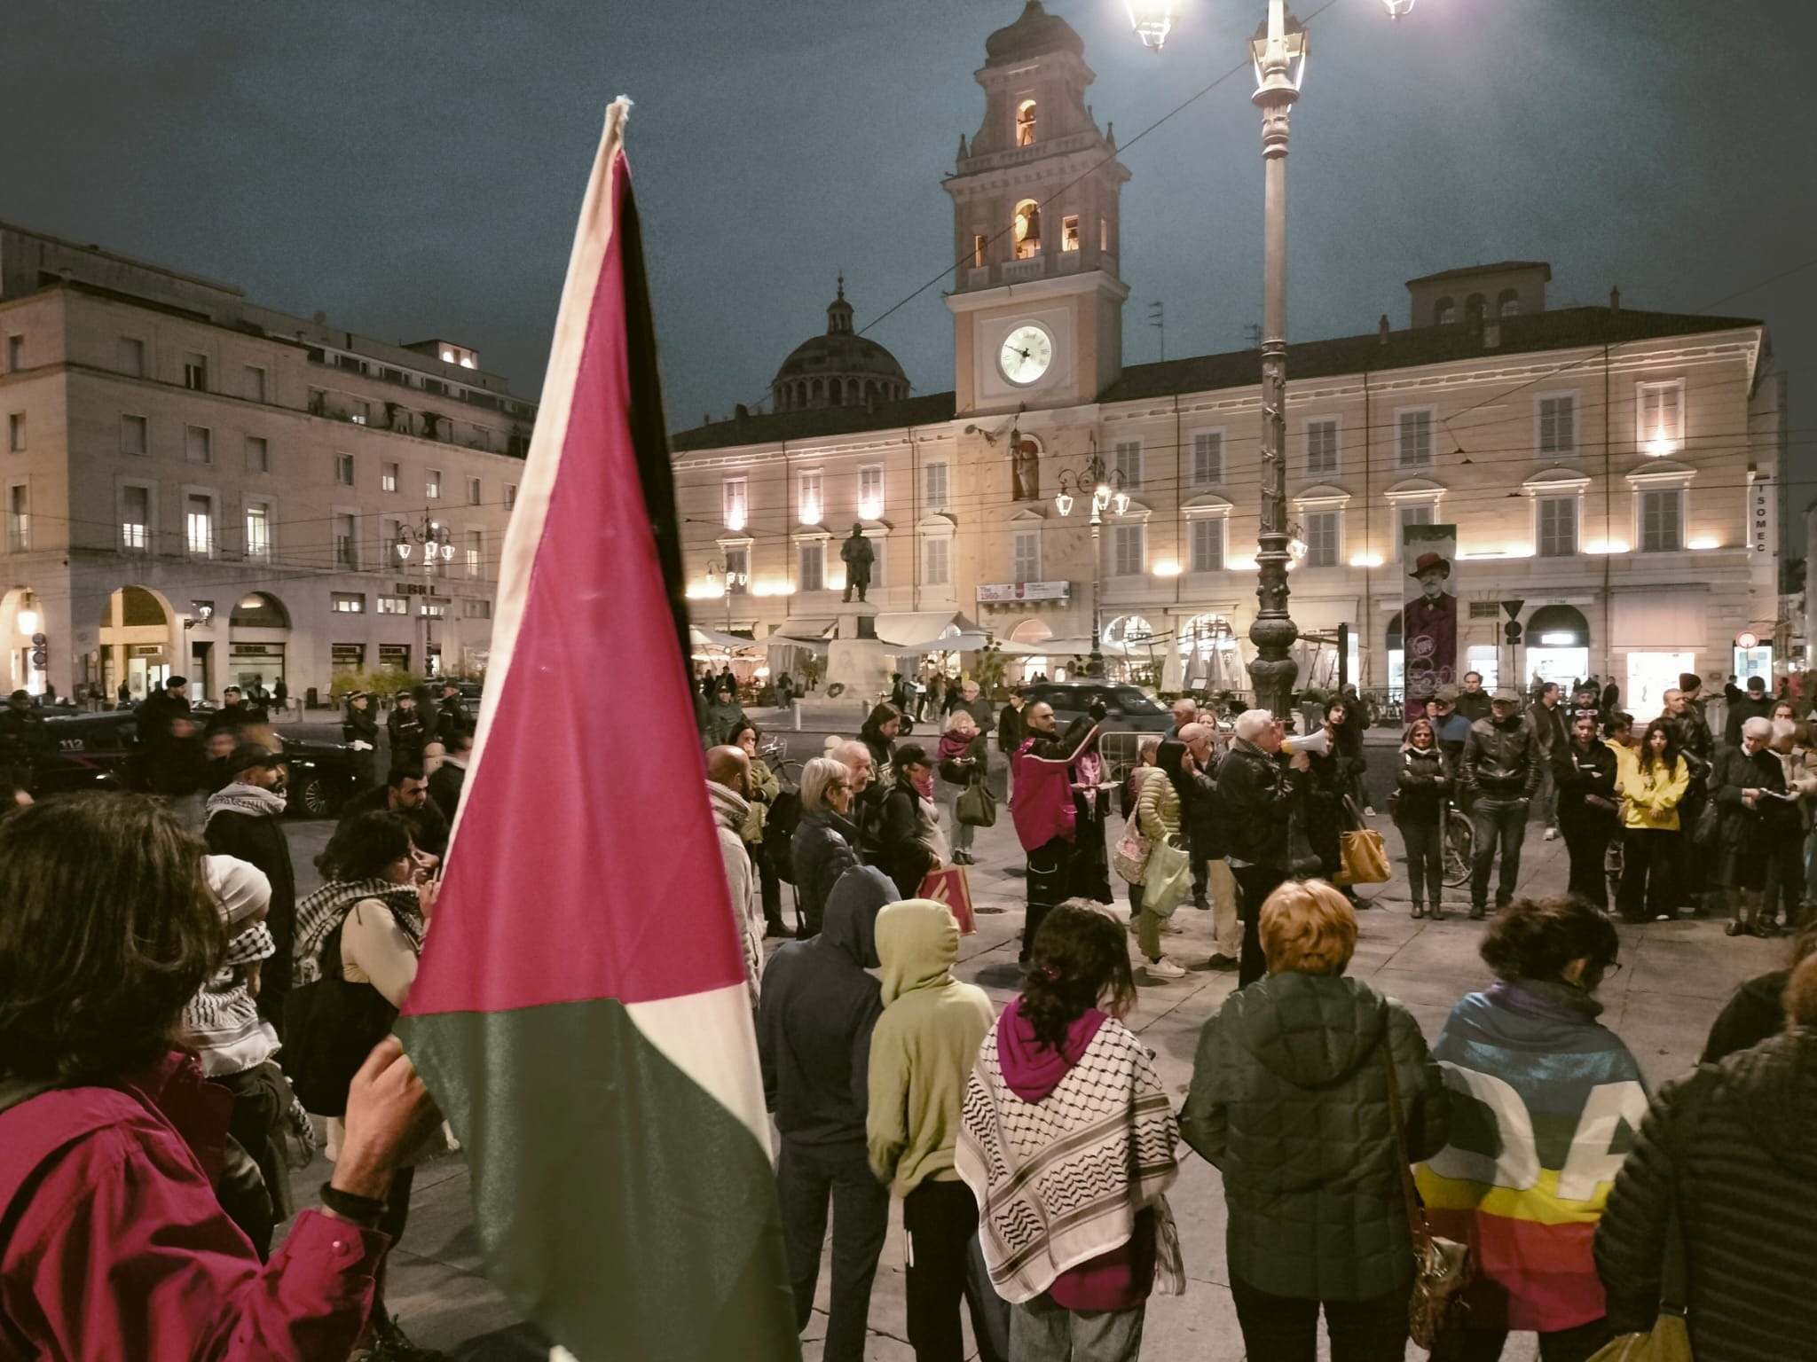
M 1154 1209 L 1156 1289 L 1185 1291 L 1174 1219 L 1161 1195 L 1177 1177 L 1179 1128 L 1141 1041 L 1105 1019 L 1039 1102 L 1003 1075 L 998 1017 L 965 1086 L 954 1168 L 978 1197 L 978 1237 L 998 1295 L 1018 1304 L 1068 1268 L 1130 1240 Z

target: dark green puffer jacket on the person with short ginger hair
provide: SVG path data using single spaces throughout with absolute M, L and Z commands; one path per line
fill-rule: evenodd
M 1179 1126 L 1223 1170 L 1230 1271 L 1279 1297 L 1370 1300 L 1414 1278 L 1383 1046 L 1408 1157 L 1445 1144 L 1419 1022 L 1361 979 L 1274 973 L 1199 1033 Z

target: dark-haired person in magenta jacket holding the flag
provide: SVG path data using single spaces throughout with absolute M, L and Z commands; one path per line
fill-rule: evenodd
M 225 937 L 204 848 L 136 795 L 0 817 L 0 1360 L 347 1357 L 398 1151 L 440 1119 L 396 1041 L 323 1209 L 269 1264 L 214 1197 L 231 1095 L 178 1044 Z

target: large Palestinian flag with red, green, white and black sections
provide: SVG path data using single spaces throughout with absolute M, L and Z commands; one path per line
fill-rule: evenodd
M 689 692 L 627 111 L 607 113 L 574 234 L 398 1031 L 467 1148 L 487 1271 L 552 1342 L 580 1362 L 798 1358 Z

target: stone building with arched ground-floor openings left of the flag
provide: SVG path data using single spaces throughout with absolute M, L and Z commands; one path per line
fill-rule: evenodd
M 0 419 L 11 686 L 483 670 L 534 407 L 474 350 L 0 223 Z

